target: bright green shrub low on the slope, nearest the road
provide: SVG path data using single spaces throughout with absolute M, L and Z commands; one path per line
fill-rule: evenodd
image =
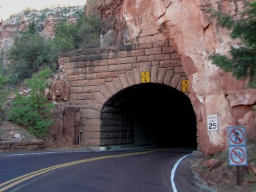
M 28 127 L 28 131 L 38 138 L 44 138 L 48 127 L 52 125 L 52 109 L 54 105 L 44 97 L 45 88 L 49 87 L 46 79 L 52 75 L 50 68 L 45 68 L 39 74 L 25 81 L 31 89 L 28 96 L 16 94 L 8 114 L 13 122 Z

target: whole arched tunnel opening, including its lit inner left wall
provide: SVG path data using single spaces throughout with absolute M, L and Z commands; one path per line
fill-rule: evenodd
M 100 145 L 196 148 L 189 97 L 164 84 L 141 83 L 113 95 L 100 112 Z

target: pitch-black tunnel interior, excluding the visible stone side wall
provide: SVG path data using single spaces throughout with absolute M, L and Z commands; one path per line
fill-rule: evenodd
M 116 93 L 108 106 L 131 117 L 134 145 L 196 148 L 196 116 L 187 95 L 164 84 L 143 83 Z M 103 110 L 104 111 L 104 110 Z

